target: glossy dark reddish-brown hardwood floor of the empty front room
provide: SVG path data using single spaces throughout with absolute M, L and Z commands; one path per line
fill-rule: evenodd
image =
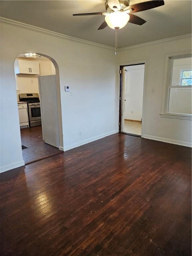
M 190 256 L 191 149 L 114 134 L 0 174 L 1 256 Z

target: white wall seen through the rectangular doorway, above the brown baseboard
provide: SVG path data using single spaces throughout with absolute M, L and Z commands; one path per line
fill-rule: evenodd
M 124 119 L 141 121 L 145 65 L 125 67 Z

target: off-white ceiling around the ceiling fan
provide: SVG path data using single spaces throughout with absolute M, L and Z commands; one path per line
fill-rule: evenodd
M 130 1 L 130 4 L 144 2 Z M 102 0 L 0 1 L 1 16 L 65 35 L 114 46 L 115 31 L 97 30 L 104 16 L 72 16 L 73 13 L 105 12 Z M 191 0 L 165 0 L 165 5 L 136 13 L 147 22 L 128 23 L 118 31 L 118 48 L 191 33 Z

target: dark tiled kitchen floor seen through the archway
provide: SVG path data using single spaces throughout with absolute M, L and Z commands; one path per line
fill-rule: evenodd
M 62 153 L 58 148 L 46 144 L 43 141 L 41 126 L 22 128 L 20 131 L 21 143 L 28 147 L 22 150 L 25 164 Z

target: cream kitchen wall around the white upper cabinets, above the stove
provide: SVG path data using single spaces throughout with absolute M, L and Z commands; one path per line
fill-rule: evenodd
M 22 58 L 17 58 L 17 59 L 22 59 Z M 53 70 L 54 66 L 52 67 L 52 62 L 50 60 L 42 61 L 38 59 L 34 59 L 34 60 L 30 59 L 30 61 L 39 62 L 40 76 L 55 74 L 55 71 Z M 16 74 L 15 78 L 16 78 L 18 101 L 19 101 L 19 93 L 38 93 L 39 94 L 38 75 Z

